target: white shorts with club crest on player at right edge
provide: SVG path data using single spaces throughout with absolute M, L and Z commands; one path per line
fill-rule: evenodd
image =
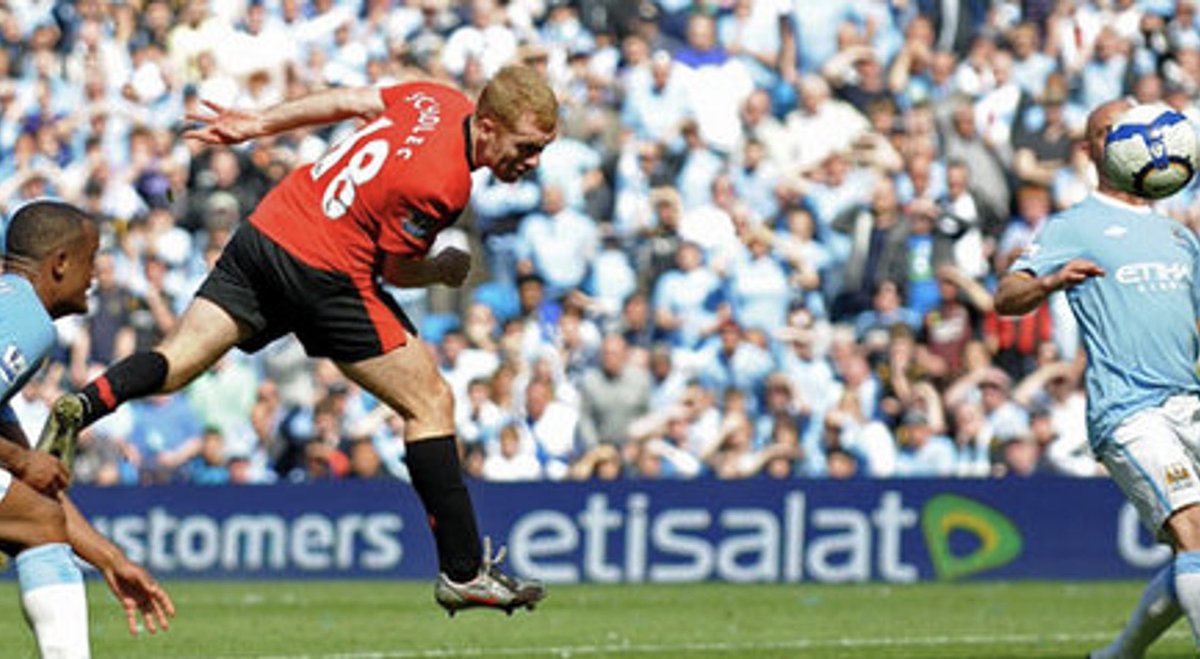
M 1171 513 L 1200 504 L 1200 397 L 1171 396 L 1129 417 L 1099 457 L 1146 528 L 1170 541 Z

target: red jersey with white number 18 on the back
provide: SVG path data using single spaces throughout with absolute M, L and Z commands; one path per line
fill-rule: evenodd
M 383 114 L 289 173 L 250 216 L 300 260 L 360 283 L 384 251 L 424 257 L 470 197 L 470 101 L 436 83 L 380 94 Z

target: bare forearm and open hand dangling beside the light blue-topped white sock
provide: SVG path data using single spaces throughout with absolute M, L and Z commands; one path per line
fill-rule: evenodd
M 108 588 L 125 609 L 130 634 L 138 634 L 138 616 L 151 634 L 169 629 L 169 619 L 175 617 L 175 605 L 167 591 L 145 568 L 130 561 L 125 552 L 101 535 L 65 492 L 59 493 L 59 502 L 66 513 L 71 549 L 104 575 Z

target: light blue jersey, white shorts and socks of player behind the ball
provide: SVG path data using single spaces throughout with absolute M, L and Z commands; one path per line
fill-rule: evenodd
M 1200 504 L 1200 242 L 1148 206 L 1098 192 L 1051 217 L 1013 269 L 1044 276 L 1075 258 L 1104 269 L 1066 289 L 1087 351 L 1092 450 L 1141 522 L 1176 545 L 1171 516 Z M 1088 657 L 1142 657 L 1181 613 L 1200 647 L 1200 551 L 1176 550 L 1122 633 Z

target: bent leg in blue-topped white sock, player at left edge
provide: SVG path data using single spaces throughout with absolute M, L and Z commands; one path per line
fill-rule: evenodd
M 0 539 L 16 553 L 20 603 L 41 655 L 89 657 L 88 598 L 62 509 L 13 479 L 0 499 Z

